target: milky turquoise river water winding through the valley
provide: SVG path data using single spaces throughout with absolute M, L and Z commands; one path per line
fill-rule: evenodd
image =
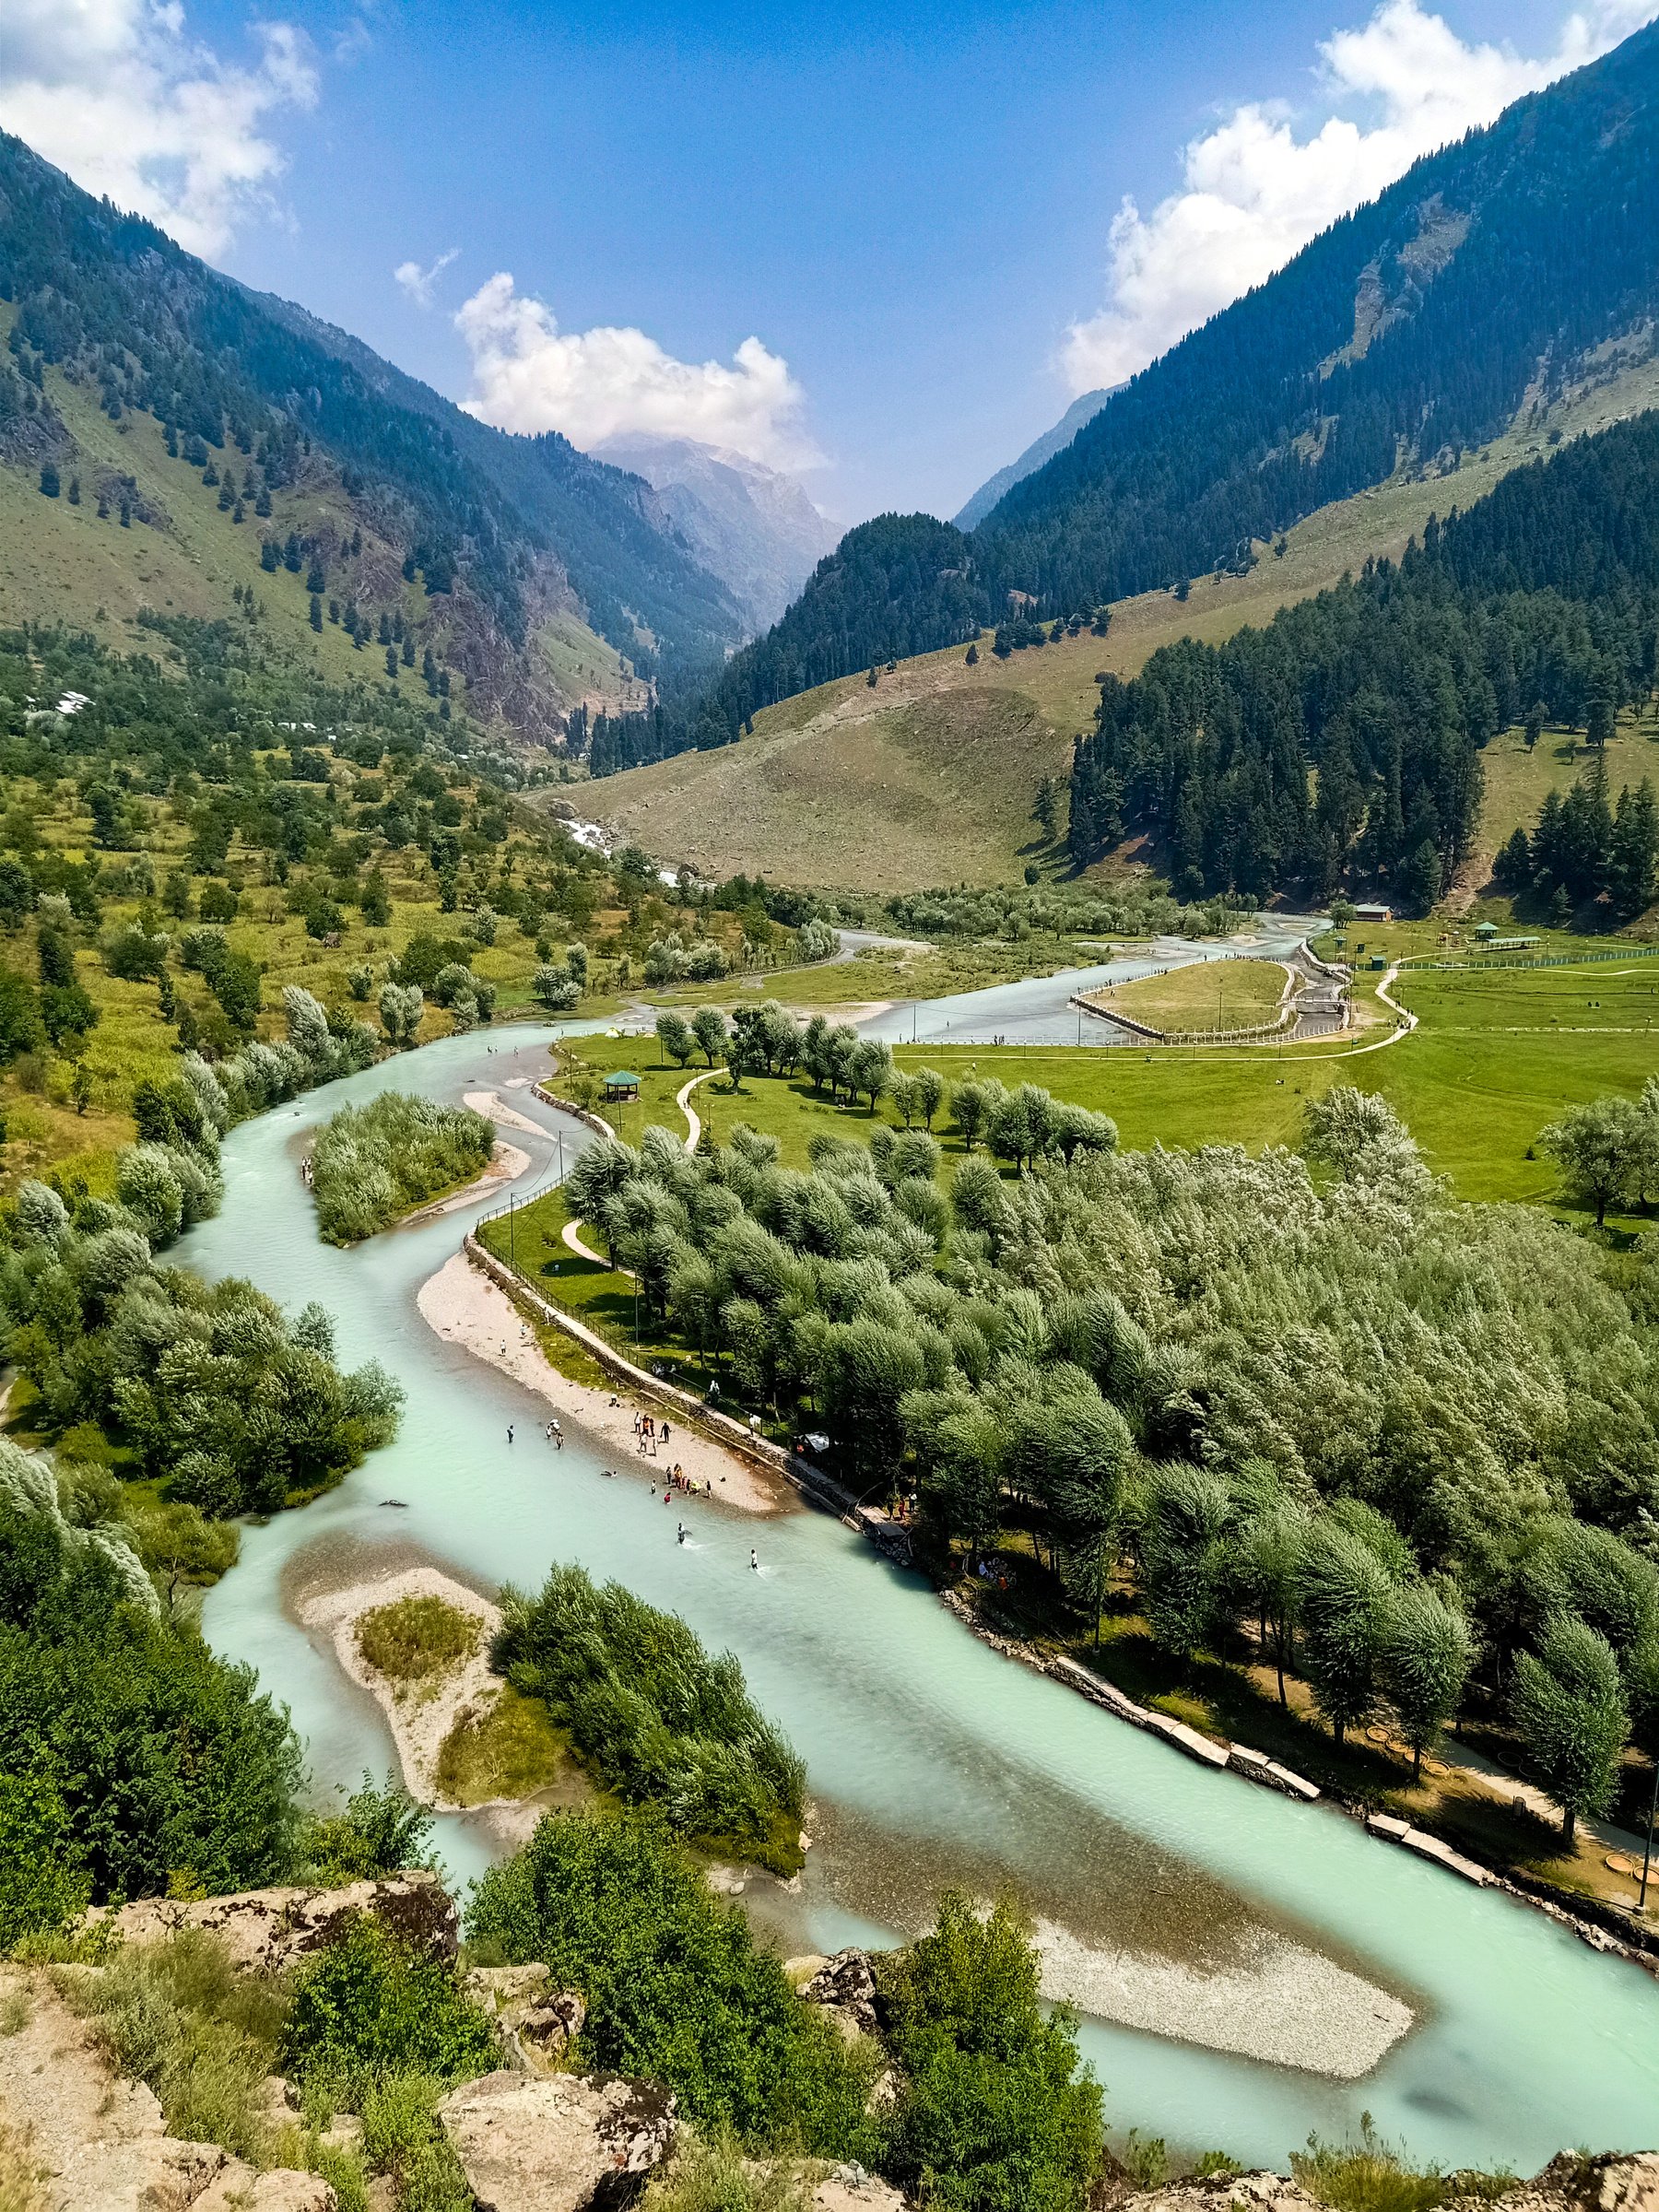
M 445 1040 L 246 1124 L 226 1144 L 223 1212 L 181 1248 L 206 1274 L 252 1276 L 290 1307 L 321 1298 L 338 1316 L 341 1358 L 385 1360 L 409 1394 L 398 1442 L 314 1506 L 250 1528 L 204 1608 L 215 1648 L 252 1661 L 290 1705 L 323 1787 L 383 1774 L 389 1739 L 323 1641 L 294 1624 L 305 1579 L 394 1546 L 480 1586 L 535 1584 L 553 1559 L 580 1559 L 732 1648 L 805 1754 L 821 1812 L 801 1896 L 774 1885 L 752 1896 L 785 1947 L 891 1940 L 925 1920 L 945 1882 L 1011 1885 L 1075 1947 L 1113 1971 L 1146 1960 L 1159 1986 L 1248 1978 L 1254 1955 L 1294 1953 L 1358 1973 L 1418 2015 L 1352 2084 L 1086 2020 L 1115 2128 L 1283 2163 L 1312 2128 L 1343 2135 L 1369 2110 L 1425 2159 L 1520 2170 L 1568 2143 L 1635 2148 L 1659 2135 L 1659 1984 L 1637 1969 L 998 1659 L 834 1520 L 699 1506 L 692 1542 L 677 1546 L 675 1513 L 644 1475 L 624 1467 L 604 1480 L 575 1427 L 551 1453 L 540 1400 L 420 1321 L 420 1283 L 478 1210 L 356 1252 L 316 1241 L 296 1172 L 312 1124 L 385 1086 L 502 1088 L 553 1130 L 560 1117 L 522 1088 L 546 1064 L 544 1042 L 544 1029 Z M 568 1159 L 582 1137 L 571 1121 L 564 1135 Z M 555 1172 L 557 1148 L 522 1144 L 535 1155 L 529 1194 Z M 489 1858 L 476 1820 L 445 1818 L 440 1843 L 462 1878 Z

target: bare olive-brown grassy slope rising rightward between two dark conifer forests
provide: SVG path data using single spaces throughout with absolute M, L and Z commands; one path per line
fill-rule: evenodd
M 714 876 L 741 863 L 776 880 L 914 891 L 1006 883 L 1026 863 L 1057 869 L 1064 856 L 1040 836 L 1033 803 L 1093 726 L 1099 668 L 1133 677 L 1177 637 L 1221 644 L 1270 622 L 1367 557 L 1398 557 L 1431 513 L 1469 507 L 1509 469 L 1548 451 L 1555 434 L 1606 429 L 1652 405 L 1659 361 L 1590 365 L 1542 420 L 1513 425 L 1444 473 L 1400 471 L 1332 502 L 1285 533 L 1283 555 L 1263 544 L 1245 575 L 1199 577 L 1183 602 L 1170 591 L 1119 599 L 1104 639 L 1084 630 L 1006 661 L 982 641 L 975 668 L 951 646 L 900 661 L 874 690 L 863 675 L 841 677 L 765 708 L 737 745 L 588 785 L 584 812 Z M 1537 812 L 1551 763 L 1562 783 L 1577 774 L 1577 752 L 1557 759 L 1562 745 L 1571 741 L 1540 745 L 1520 770 L 1489 776 L 1482 852 Z

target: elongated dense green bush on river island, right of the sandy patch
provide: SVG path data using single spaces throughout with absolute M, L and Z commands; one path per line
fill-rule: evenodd
M 493 1657 L 619 1798 L 774 1871 L 801 1865 L 805 1765 L 750 1699 L 737 1659 L 710 1659 L 677 1615 L 555 1566 L 540 1597 L 502 1593 Z

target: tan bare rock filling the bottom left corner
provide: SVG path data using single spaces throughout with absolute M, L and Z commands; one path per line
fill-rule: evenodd
M 155 2093 L 124 2081 L 44 1973 L 0 1969 L 0 2121 L 44 2212 L 334 2212 L 316 2174 L 257 2172 L 168 2135 Z

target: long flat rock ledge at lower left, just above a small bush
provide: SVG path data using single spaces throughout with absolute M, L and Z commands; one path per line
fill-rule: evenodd
M 234 1898 L 142 1898 L 119 1909 L 95 1905 L 86 1922 L 111 1922 L 126 1942 L 159 1942 L 175 1929 L 208 1929 L 248 1973 L 279 1973 L 332 1944 L 347 1920 L 372 1913 L 394 1936 L 445 1958 L 456 1955 L 456 1900 L 436 1874 L 398 1874 L 345 1889 L 246 1889 Z

